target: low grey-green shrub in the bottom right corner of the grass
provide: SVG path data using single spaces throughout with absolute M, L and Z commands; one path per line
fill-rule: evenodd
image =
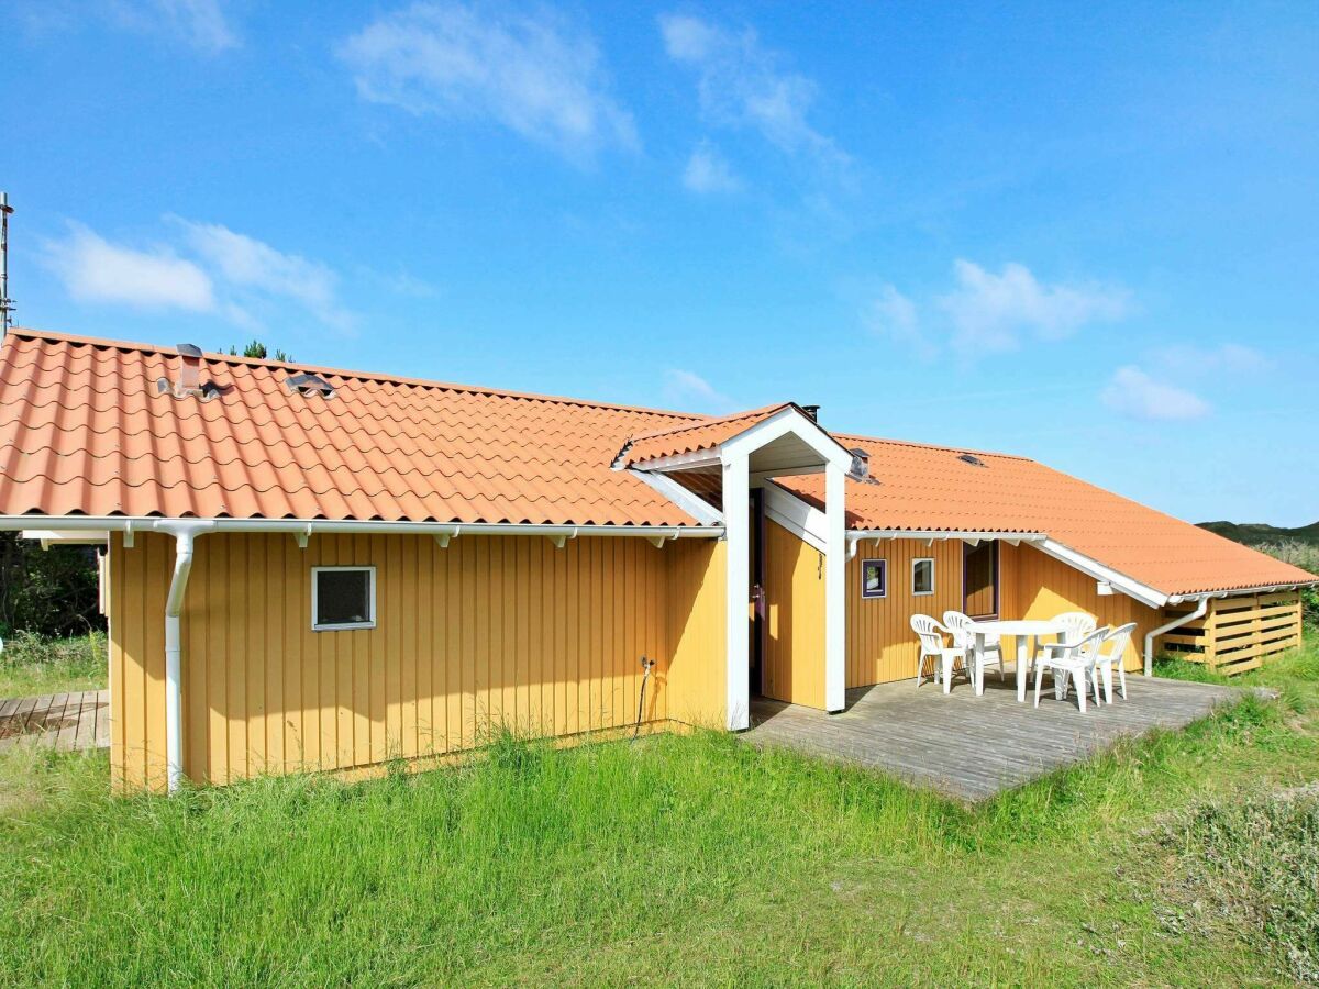
M 1175 853 L 1157 907 L 1166 928 L 1235 931 L 1319 984 L 1319 785 L 1200 804 L 1159 843 Z

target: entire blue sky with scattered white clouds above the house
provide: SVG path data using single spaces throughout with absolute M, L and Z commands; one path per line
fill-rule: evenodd
M 11 0 L 18 322 L 1319 518 L 1319 7 Z

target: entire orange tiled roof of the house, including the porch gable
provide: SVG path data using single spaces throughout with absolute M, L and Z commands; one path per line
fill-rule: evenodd
M 704 415 L 206 355 L 208 402 L 157 393 L 179 357 L 33 330 L 0 345 L 0 516 L 695 525 L 627 463 L 712 448 L 791 404 Z M 290 394 L 313 371 L 332 398 Z M 630 446 L 625 440 L 633 438 Z M 871 455 L 853 529 L 1047 533 L 1165 593 L 1315 580 L 1024 458 L 835 436 Z M 823 505 L 818 476 L 781 484 Z

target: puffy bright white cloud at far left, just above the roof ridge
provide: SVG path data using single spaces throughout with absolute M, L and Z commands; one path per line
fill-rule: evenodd
M 138 309 L 215 309 L 211 278 L 193 261 L 166 248 L 137 251 L 111 244 L 82 224 L 69 237 L 47 241 L 47 265 L 80 302 L 112 302 Z

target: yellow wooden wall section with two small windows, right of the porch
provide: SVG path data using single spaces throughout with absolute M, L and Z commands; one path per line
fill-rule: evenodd
M 934 559 L 934 593 L 911 593 L 911 560 Z M 888 560 L 888 596 L 861 597 L 861 560 Z M 864 687 L 915 676 L 913 614 L 939 621 L 962 608 L 962 543 L 936 539 L 863 542 L 847 562 L 847 686 Z

